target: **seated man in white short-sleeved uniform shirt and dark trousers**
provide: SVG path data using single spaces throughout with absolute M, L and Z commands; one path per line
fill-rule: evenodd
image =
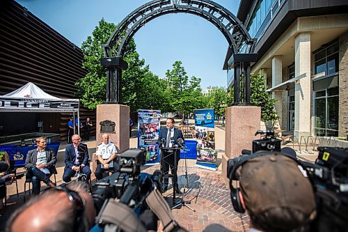
M 120 171 L 120 165 L 116 162 L 116 146 L 109 141 L 109 134 L 102 135 L 102 143 L 97 146 L 97 160 L 100 162 L 95 169 L 97 180 L 103 178 L 105 171 Z

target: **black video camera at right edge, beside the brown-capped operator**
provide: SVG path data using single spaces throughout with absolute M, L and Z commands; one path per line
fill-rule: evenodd
M 347 231 L 348 148 L 318 147 L 315 163 L 301 162 L 314 187 L 318 216 L 313 231 Z

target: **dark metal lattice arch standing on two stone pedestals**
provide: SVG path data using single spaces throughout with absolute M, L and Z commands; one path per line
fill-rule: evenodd
M 233 54 L 238 54 L 241 50 L 245 51 L 246 54 L 251 54 L 253 52 L 254 41 L 249 36 L 248 31 L 246 31 L 242 22 L 240 22 L 229 10 L 223 8 L 223 6 L 214 1 L 150 1 L 143 4 L 143 6 L 136 8 L 136 10 L 127 15 L 127 17 L 118 24 L 116 30 L 113 31 L 111 37 L 104 45 L 104 58 L 101 63 L 106 66 L 106 103 L 120 103 L 122 70 L 127 68 L 127 63 L 122 60 L 122 57 L 125 55 L 129 40 L 148 22 L 155 20 L 157 17 L 162 15 L 172 13 L 189 13 L 191 15 L 197 15 L 198 17 L 203 17 L 208 22 L 214 24 L 214 26 L 223 33 L 223 36 L 228 41 L 228 46 L 232 49 Z M 237 32 L 232 34 L 232 31 Z M 118 47 L 118 49 L 116 49 L 116 47 Z M 233 63 L 238 64 L 240 62 L 234 59 Z M 244 65 L 242 66 L 244 67 Z M 248 67 L 250 67 L 250 62 L 248 63 Z M 235 69 L 240 70 L 239 65 L 235 65 Z M 235 72 L 235 74 L 240 75 L 240 72 L 239 74 L 238 72 Z M 239 86 L 237 87 L 239 88 Z M 248 91 L 244 91 L 244 93 L 247 92 Z M 236 102 L 239 102 L 239 100 L 235 100 L 235 103 Z

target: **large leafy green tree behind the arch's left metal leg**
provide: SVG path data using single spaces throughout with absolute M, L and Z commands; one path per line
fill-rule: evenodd
M 83 68 L 87 71 L 86 77 L 80 79 L 77 96 L 82 104 L 88 109 L 95 109 L 98 104 L 106 98 L 106 70 L 100 65 L 100 59 L 104 56 L 102 44 L 106 43 L 116 25 L 100 20 L 98 26 L 82 43 L 81 49 L 84 52 Z M 118 45 L 113 47 L 118 49 Z M 166 84 L 150 72 L 145 60 L 140 59 L 136 52 L 134 40 L 129 40 L 125 55 L 122 57 L 128 63 L 128 69 L 122 71 L 122 102 L 131 107 L 131 111 L 137 109 L 161 109 L 166 108 L 164 92 Z M 161 99 L 161 100 L 159 100 Z M 164 102 L 164 105 L 159 103 Z

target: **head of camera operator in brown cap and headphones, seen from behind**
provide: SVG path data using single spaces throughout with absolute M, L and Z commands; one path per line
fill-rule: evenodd
M 228 167 L 231 200 L 237 212 L 248 212 L 254 231 L 309 229 L 316 215 L 315 194 L 293 157 L 263 151 L 236 159 Z M 235 188 L 232 180 L 238 179 Z

